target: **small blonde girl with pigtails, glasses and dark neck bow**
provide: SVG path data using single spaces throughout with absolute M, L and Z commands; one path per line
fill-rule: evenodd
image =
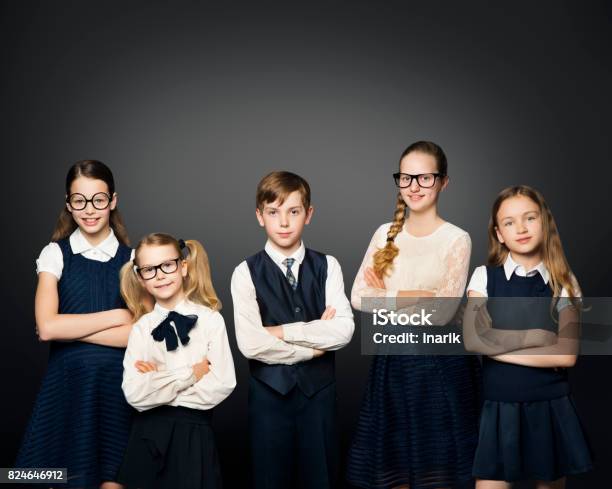
M 145 236 L 121 270 L 136 323 L 123 362 L 134 418 L 119 481 L 126 488 L 218 489 L 213 408 L 236 386 L 221 302 L 195 240 Z M 155 306 L 148 311 L 147 299 Z

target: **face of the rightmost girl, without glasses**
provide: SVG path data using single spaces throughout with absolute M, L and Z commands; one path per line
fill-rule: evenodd
M 544 232 L 542 213 L 536 202 L 517 195 L 502 202 L 497 211 L 497 239 L 514 255 L 540 253 Z

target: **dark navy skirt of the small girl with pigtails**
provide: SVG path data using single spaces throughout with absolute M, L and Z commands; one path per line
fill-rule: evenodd
M 221 489 L 212 411 L 160 406 L 134 416 L 118 480 L 125 489 Z

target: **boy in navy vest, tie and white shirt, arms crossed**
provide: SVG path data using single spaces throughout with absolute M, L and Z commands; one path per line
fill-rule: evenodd
M 335 486 L 334 351 L 355 328 L 336 259 L 305 248 L 310 187 L 273 172 L 257 187 L 265 249 L 232 275 L 234 323 L 249 359 L 249 429 L 256 489 Z

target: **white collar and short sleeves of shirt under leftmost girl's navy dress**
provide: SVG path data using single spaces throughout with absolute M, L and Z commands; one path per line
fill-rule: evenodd
M 77 255 L 81 254 L 89 260 L 107 262 L 115 257 L 119 248 L 119 240 L 115 236 L 113 229 L 104 241 L 92 245 L 83 235 L 80 228 L 76 228 L 68 238 L 70 249 Z M 134 250 L 130 259 L 134 259 Z M 57 277 L 62 278 L 62 270 L 64 269 L 64 257 L 62 250 L 57 243 L 49 243 L 40 252 L 40 256 L 36 260 L 36 273 L 49 272 Z

